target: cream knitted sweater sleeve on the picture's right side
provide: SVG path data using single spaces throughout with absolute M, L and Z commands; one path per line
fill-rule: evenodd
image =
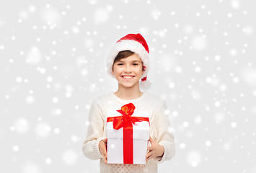
M 175 155 L 175 141 L 172 128 L 169 123 L 168 112 L 166 102 L 161 99 L 155 111 L 155 125 L 157 133 L 156 141 L 164 147 L 164 155 L 155 159 L 158 163 L 170 160 Z

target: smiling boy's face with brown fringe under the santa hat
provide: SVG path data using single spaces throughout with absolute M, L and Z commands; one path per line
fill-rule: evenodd
M 124 87 L 130 88 L 138 85 L 143 73 L 141 58 L 136 53 L 113 64 L 112 74 L 115 75 L 118 83 Z

